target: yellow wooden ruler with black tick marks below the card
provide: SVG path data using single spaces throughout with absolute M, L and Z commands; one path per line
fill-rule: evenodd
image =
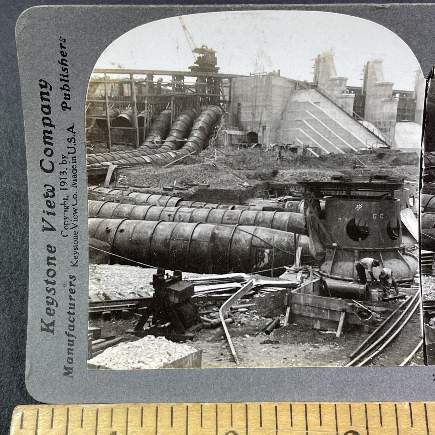
M 23 405 L 10 435 L 435 435 L 435 402 Z

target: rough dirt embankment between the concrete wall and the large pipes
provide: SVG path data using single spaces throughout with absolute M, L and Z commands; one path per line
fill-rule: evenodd
M 276 151 L 225 148 L 216 152 L 205 150 L 166 168 L 152 164 L 122 169 L 117 172 L 117 183 L 151 189 L 197 184 L 238 189 L 260 181 L 326 181 L 335 175 L 390 175 L 415 179 L 418 162 L 418 155 L 413 152 L 328 154 L 319 158 L 283 154 L 278 158 Z

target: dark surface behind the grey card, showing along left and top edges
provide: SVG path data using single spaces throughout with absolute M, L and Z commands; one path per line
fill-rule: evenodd
M 24 381 L 27 287 L 28 287 L 28 202 L 27 169 L 21 107 L 20 77 L 15 45 L 15 23 L 20 13 L 43 4 L 205 4 L 183 1 L 32 1 L 3 0 L 0 14 L 0 435 L 9 431 L 10 417 L 17 405 L 34 404 Z M 238 4 L 214 0 L 214 4 Z M 251 4 L 264 2 L 254 1 Z M 331 1 L 289 1 L 285 3 L 331 3 Z M 383 3 L 382 1 L 338 1 L 335 3 Z M 397 1 L 394 3 L 422 3 Z M 424 2 L 429 3 L 429 2 Z M 428 43 L 432 43 L 429 41 Z M 435 59 L 434 59 L 435 61 Z M 434 85 L 432 85 L 432 90 Z M 435 92 L 430 97 L 428 114 L 433 112 L 435 133 Z M 435 151 L 435 134 L 428 145 Z M 430 151 L 430 150 L 428 150 Z

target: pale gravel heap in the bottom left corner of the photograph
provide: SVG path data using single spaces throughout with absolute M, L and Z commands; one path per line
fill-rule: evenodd
M 88 361 L 89 364 L 111 370 L 154 369 L 176 361 L 197 349 L 184 343 L 174 343 L 164 337 L 147 335 L 107 348 Z

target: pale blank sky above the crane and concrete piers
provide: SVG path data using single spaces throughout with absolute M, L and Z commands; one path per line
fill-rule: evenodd
M 418 61 L 395 33 L 371 21 L 337 13 L 245 11 L 183 16 L 197 47 L 216 50 L 221 73 L 281 70 L 281 76 L 313 78 L 313 59 L 334 50 L 338 76 L 361 86 L 368 60 L 382 59 L 385 81 L 414 89 Z M 194 58 L 178 17 L 144 24 L 107 47 L 96 68 L 188 70 Z

